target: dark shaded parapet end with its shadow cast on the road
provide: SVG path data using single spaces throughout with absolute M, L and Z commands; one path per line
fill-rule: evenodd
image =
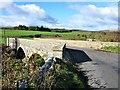
M 63 47 L 62 59 L 69 60 L 73 63 L 92 61 L 84 51 L 67 48 L 66 44 Z

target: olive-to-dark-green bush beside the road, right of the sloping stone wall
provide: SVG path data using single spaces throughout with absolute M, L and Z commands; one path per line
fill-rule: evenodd
M 43 78 L 36 82 L 37 88 L 49 89 L 80 89 L 84 88 L 83 83 L 75 73 L 70 63 L 55 63 Z

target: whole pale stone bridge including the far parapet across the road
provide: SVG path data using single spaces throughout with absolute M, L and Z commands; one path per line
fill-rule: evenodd
M 8 45 L 13 47 L 14 38 L 9 38 Z M 38 53 L 44 58 L 50 56 L 62 58 L 62 49 L 66 43 L 66 47 L 77 48 L 93 48 L 100 49 L 103 46 L 118 46 L 117 42 L 91 42 L 91 41 L 77 41 L 77 40 L 56 40 L 56 39 L 18 39 L 19 45 L 25 52 L 26 58 L 30 57 L 33 53 Z

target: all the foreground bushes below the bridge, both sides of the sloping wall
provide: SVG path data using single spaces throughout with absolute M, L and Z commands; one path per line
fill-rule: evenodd
M 38 78 L 34 82 L 34 73 L 45 63 L 39 54 L 33 54 L 29 62 L 26 62 L 27 66 L 26 63 L 22 62 L 22 59 L 16 59 L 6 52 L 2 56 L 4 57 L 2 62 L 2 88 L 16 88 L 16 82 L 21 80 L 28 80 L 27 88 L 84 88 L 82 81 L 70 62 L 61 61 L 54 63 L 43 77 Z

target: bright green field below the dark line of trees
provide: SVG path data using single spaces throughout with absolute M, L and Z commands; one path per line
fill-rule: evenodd
M 74 36 L 79 35 L 88 35 L 90 32 L 43 32 L 43 31 L 27 31 L 27 30 L 2 30 L 0 32 L 0 36 L 5 36 L 5 37 L 19 37 L 19 36 L 30 36 L 30 35 L 62 35 L 62 38 L 59 39 L 71 39 Z M 0 38 L 0 44 L 5 44 L 6 39 Z M 47 37 L 49 38 L 49 37 Z

